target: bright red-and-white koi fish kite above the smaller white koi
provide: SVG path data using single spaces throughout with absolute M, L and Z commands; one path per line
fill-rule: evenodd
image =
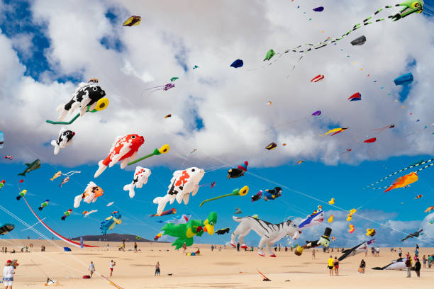
M 132 162 L 137 156 L 137 151 L 145 139 L 140 135 L 126 135 L 124 137 L 116 137 L 113 145 L 111 145 L 109 156 L 106 159 L 99 161 L 99 169 L 96 170 L 94 177 L 98 177 L 107 168 L 112 167 L 117 162 L 121 161 L 121 169 L 125 168 L 129 162 Z

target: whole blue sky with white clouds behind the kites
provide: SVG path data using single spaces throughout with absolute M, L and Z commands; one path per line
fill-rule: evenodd
M 431 1 L 425 3 L 434 5 Z M 255 4 L 250 8 L 257 9 L 256 12 L 262 11 L 262 5 L 266 4 Z M 433 49 L 433 42 L 429 41 L 433 39 L 433 35 L 428 32 L 423 34 L 427 39 L 419 35 L 420 41 L 423 41 L 418 47 L 419 50 L 411 46 L 412 43 L 418 46 L 418 43 L 411 40 L 399 42 L 396 36 L 396 30 L 399 29 L 417 30 L 416 27 L 422 21 L 430 21 L 430 14 L 424 13 L 422 19 L 409 16 L 405 20 L 405 26 L 401 24 L 404 21 L 401 21 L 396 24 L 396 29 L 385 24 L 384 29 L 393 32 L 390 35 L 384 35 L 385 32 L 378 25 L 370 27 L 370 30 L 367 28 L 364 33 L 368 42 L 366 46 L 362 46 L 367 52 L 357 50 L 360 47 L 356 49 L 342 45 L 355 61 L 364 64 L 365 71 L 373 72 L 382 85 L 387 84 L 384 86 L 392 92 L 393 99 L 399 100 L 399 103 L 393 103 L 391 99 L 379 97 L 383 95 L 383 91 L 373 85 L 372 81 L 365 77 L 362 79 L 357 74 L 359 72 L 355 72 L 351 67 L 352 60 L 348 62 L 338 51 L 323 52 L 327 55 L 326 60 L 330 60 L 324 67 L 321 67 L 321 63 L 325 60 L 318 61 L 315 57 L 319 56 L 313 55 L 305 64 L 298 64 L 301 68 L 293 72 L 303 75 L 303 79 L 311 79 L 313 74 L 323 72 L 326 74 L 326 81 L 330 79 L 330 84 L 318 84 L 323 86 L 312 87 L 308 81 L 305 84 L 298 79 L 291 79 L 292 77 L 288 80 L 287 63 L 285 67 L 279 66 L 281 62 L 276 62 L 276 68 L 258 69 L 257 67 L 262 65 L 262 59 L 254 64 L 252 62 L 255 57 L 262 57 L 265 47 L 274 47 L 277 45 L 275 43 L 287 41 L 284 38 L 285 33 L 274 34 L 269 31 L 275 27 L 283 27 L 281 30 L 284 31 L 284 25 L 290 25 L 274 23 L 273 21 L 279 21 L 282 14 L 279 7 L 267 5 L 269 15 L 273 16 L 270 17 L 272 20 L 267 13 L 262 12 L 256 20 L 246 16 L 246 26 L 247 23 L 255 23 L 261 26 L 260 29 L 264 29 L 261 32 L 269 37 L 264 41 L 265 46 L 260 47 L 260 56 L 257 56 L 251 49 L 253 40 L 245 33 L 248 26 L 245 30 L 238 26 L 234 30 L 216 28 L 215 40 L 212 35 L 209 35 L 210 39 L 206 39 L 201 36 L 203 34 L 199 33 L 200 31 L 192 36 L 189 34 L 190 25 L 200 29 L 201 25 L 208 27 L 209 23 L 201 22 L 201 25 L 197 25 L 194 21 L 186 21 L 186 26 L 181 29 L 171 22 L 174 20 L 169 18 L 169 14 L 164 13 L 164 5 L 155 6 L 155 15 L 152 15 L 151 12 L 145 14 L 144 8 L 140 6 L 126 7 L 121 3 L 107 5 L 98 2 L 95 7 L 91 7 L 94 10 L 89 12 L 97 11 L 102 15 L 98 18 L 97 26 L 94 22 L 87 22 L 90 20 L 81 16 L 79 8 L 77 11 L 75 8 L 68 11 L 67 8 L 55 5 L 48 8 L 40 1 L 30 4 L 27 1 L 3 1 L 1 11 L 4 13 L 0 19 L 0 29 L 5 37 L 5 47 L 11 46 L 8 51 L 11 58 L 16 57 L 17 63 L 11 64 L 11 71 L 14 72 L 11 75 L 16 75 L 13 80 L 16 81 L 13 82 L 16 86 L 7 86 L 0 98 L 4 115 L 3 120 L 0 120 L 0 130 L 5 132 L 6 138 L 5 146 L 0 152 L 2 156 L 13 154 L 15 157 L 13 161 L 0 159 L 0 179 L 6 180 L 6 186 L 1 188 L 1 195 L 4 197 L 1 205 L 29 224 L 35 222 L 35 217 L 26 208 L 23 200 L 15 199 L 18 194 L 17 183 L 24 179 L 19 185 L 28 190 L 30 204 L 37 208 L 43 200 L 50 199 L 48 208 L 39 212 L 40 217 L 46 217 L 48 225 L 66 237 L 99 234 L 100 222 L 113 210 L 119 210 L 123 215 L 123 224 L 112 232 L 138 234 L 152 239 L 162 227 L 156 220 L 170 218 L 148 217 L 156 210 L 156 205 L 152 203 L 153 198 L 165 195 L 174 170 L 198 166 L 207 171 L 202 183 L 216 181 L 216 187 L 212 190 L 208 187 L 200 188 L 199 193 L 190 198 L 188 205 L 175 202 L 173 206 L 167 205 L 167 208 L 176 208 L 179 214 L 191 214 L 195 219 L 205 218 L 208 212 L 216 210 L 217 228 L 235 229 L 238 223 L 232 220 L 232 215 L 236 207 L 243 211 L 241 215 L 257 214 L 269 222 L 282 222 L 286 217 L 306 217 L 318 205 L 323 205 L 327 217 L 333 214 L 340 219 L 330 225 L 336 234 L 336 246 L 348 246 L 365 239 L 367 227 L 377 229 L 377 240 L 380 244 L 396 245 L 404 237 L 404 232 L 414 232 L 425 226 L 430 219 L 425 218 L 428 214 L 423 211 L 434 205 L 434 169 L 421 171 L 419 181 L 411 187 L 399 188 L 389 193 L 366 189 L 365 186 L 420 159 L 430 159 L 433 155 L 433 129 L 430 127 L 421 130 L 424 125 L 434 122 L 433 102 L 426 95 L 426 91 L 430 91 L 427 80 L 429 77 L 422 77 L 426 71 L 430 71 L 427 66 L 429 63 L 424 62 L 426 58 L 423 57 L 430 55 Z M 313 4 L 309 2 L 308 5 Z M 294 5 L 286 8 L 288 13 L 293 13 L 291 15 L 295 17 L 294 21 L 308 23 Z M 361 11 L 372 10 L 372 7 L 369 10 L 369 7 L 363 4 L 357 8 Z M 59 11 L 63 12 L 62 9 L 65 10 L 65 23 L 57 22 L 59 20 L 56 18 Z M 126 16 L 136 12 L 141 12 L 143 16 L 140 26 L 123 29 L 120 23 Z M 246 14 L 256 15 L 255 13 Z M 333 17 L 329 16 L 328 11 L 313 15 L 315 23 L 329 30 L 339 25 L 327 21 L 326 17 Z M 345 17 L 343 21 L 353 21 L 350 15 Z M 185 21 L 185 18 L 183 19 Z M 80 45 L 72 49 L 73 45 L 68 43 L 66 48 L 62 49 L 62 43 L 67 40 L 65 35 L 59 32 L 61 29 L 57 30 L 57 26 L 65 25 L 66 30 L 74 30 L 75 26 L 70 26 L 71 21 L 76 23 L 77 27 L 87 27 L 89 30 L 92 27 L 98 32 L 91 33 L 92 35 L 72 33 L 70 38 Z M 261 21 L 265 24 L 262 25 Z M 227 25 L 230 25 L 230 22 Z M 303 27 L 306 29 L 304 35 L 315 39 L 323 37 L 318 36 L 318 29 L 314 27 L 316 26 L 311 24 Z M 291 32 L 291 28 L 286 29 Z M 237 38 L 231 38 L 230 33 L 238 33 Z M 335 33 L 338 34 L 338 31 Z M 292 37 L 297 42 L 306 41 L 299 33 Z M 227 48 L 216 45 L 216 42 L 226 38 L 231 40 Z M 394 54 L 383 51 L 386 45 L 401 57 L 399 64 L 386 59 Z M 379 60 L 370 60 L 369 51 L 377 51 Z M 245 55 L 246 67 L 260 72 L 256 75 L 241 69 L 224 70 L 228 69 L 226 62 L 232 62 L 232 58 L 237 58 L 237 55 Z M 200 68 L 192 70 L 193 64 L 199 64 Z M 279 71 L 279 74 L 274 74 L 277 73 L 275 71 Z M 394 87 L 392 80 L 397 74 L 408 71 L 415 74 L 416 81 L 403 88 Z M 48 125 L 44 120 L 55 118 L 55 107 L 72 94 L 79 81 L 86 81 L 95 75 L 101 79 L 101 86 L 104 86 L 111 97 L 111 111 L 108 109 L 109 112 L 85 115 L 85 119 L 77 120 L 77 123 L 71 126 L 77 132 L 74 144 L 61 150 L 54 158 L 49 143 L 60 128 Z M 167 79 L 174 75 L 180 77 L 175 82 L 175 89 L 165 94 L 157 92 L 143 97 L 144 88 L 165 84 Z M 338 86 L 343 87 L 337 93 L 335 89 Z M 14 94 L 15 90 L 19 90 L 16 87 L 22 90 Z M 360 102 L 362 104 L 355 104 L 357 108 L 353 106 L 354 103 L 340 104 L 336 102 L 338 98 L 334 98 L 341 95 L 346 99 L 354 91 L 361 91 L 363 95 L 363 101 Z M 264 104 L 268 100 L 274 103 L 270 108 L 272 111 Z M 40 105 L 40 109 L 36 110 L 35 103 L 38 103 L 38 107 Z M 369 103 L 369 106 L 366 103 Z M 5 104 L 7 106 L 4 106 Z M 406 106 L 408 111 L 403 113 L 400 106 Z M 6 111 L 6 107 L 11 108 L 9 111 L 17 108 L 16 113 Z M 279 128 L 269 134 L 259 133 L 264 128 L 269 129 L 270 126 L 285 123 L 288 119 L 304 118 L 306 113 L 310 115 L 309 111 L 313 112 L 318 108 L 323 110 L 321 118 L 300 120 L 295 125 Z M 414 115 L 408 116 L 409 112 Z M 173 117 L 163 123 L 160 118 L 167 113 L 172 113 Z M 416 123 L 415 118 L 420 118 L 421 122 Z M 168 123 L 169 121 L 172 123 Z M 396 124 L 396 130 L 386 130 L 382 135 L 372 133 L 372 128 L 389 125 L 391 122 Z M 369 125 L 361 129 L 360 125 L 363 123 Z M 319 133 L 338 125 L 349 125 L 351 129 L 334 137 L 318 139 Z M 418 133 L 413 137 L 404 137 L 408 132 L 414 131 Z M 134 168 L 121 170 L 116 165 L 106 169 L 99 178 L 93 177 L 98 160 L 109 153 L 114 137 L 131 132 L 145 135 L 145 145 L 140 149 L 140 154 L 147 154 L 164 142 L 171 145 L 171 151 L 167 155 L 152 157 L 140 163 L 141 166 L 150 168 L 152 175 L 148 184 L 136 189 L 133 199 L 130 199 L 122 188 L 132 181 L 131 169 Z M 362 140 L 368 137 L 378 137 L 378 141 L 369 147 L 363 145 Z M 273 141 L 279 143 L 277 149 L 271 152 L 263 149 Z M 282 147 L 282 142 L 286 142 L 287 146 Z M 352 147 L 352 152 L 340 154 L 347 147 Z M 198 148 L 198 152 L 189 154 L 193 148 Z M 33 162 L 38 158 L 43 163 L 40 169 L 30 172 L 25 178 L 17 176 L 25 168 L 24 162 Z M 245 159 L 250 162 L 251 174 L 228 180 L 226 171 L 229 167 L 237 166 Z M 306 159 L 306 162 L 297 165 L 299 159 Z M 58 184 L 62 177 L 50 181 L 60 170 L 64 173 L 78 170 L 82 171 L 82 174 L 75 174 L 69 183 L 60 188 Z M 398 176 L 401 175 L 396 177 Z M 82 193 L 89 181 L 94 181 L 104 189 L 104 197 L 94 204 L 82 203 L 65 222 L 60 220 L 63 212 L 72 208 L 74 196 Z M 392 181 L 394 178 L 384 181 L 383 186 Z M 260 189 L 274 188 L 275 183 L 284 185 L 282 198 L 269 202 L 250 201 L 252 194 Z M 199 208 L 202 200 L 230 193 L 234 188 L 245 185 L 250 187 L 247 196 L 223 198 Z M 423 194 L 423 198 L 415 200 L 414 197 L 419 194 Z M 346 212 L 339 212 L 337 208 L 318 202 L 327 202 L 330 198 L 335 198 L 335 205 L 345 210 L 362 206 L 357 212 L 362 217 L 356 216 L 352 222 L 356 226 L 354 234 L 346 232 Z M 107 208 L 106 203 L 111 201 L 115 204 Z M 99 211 L 86 219 L 82 217 L 83 210 L 94 209 Z M 37 237 L 33 232 L 21 232 L 25 227 L 4 212 L 0 212 L 0 221 L 17 225 L 6 237 Z M 317 233 L 313 231 L 321 233 L 323 227 L 321 225 L 308 229 L 301 240 L 316 237 Z M 49 235 L 42 226 L 38 225 L 36 228 Z M 397 231 L 391 232 L 390 228 Z M 434 229 L 431 228 L 430 232 L 434 234 Z M 211 237 L 205 234 L 201 239 L 196 239 L 196 242 L 224 244 L 229 239 L 229 235 Z M 251 233 L 246 240 L 255 245 L 258 238 Z M 434 235 L 426 236 L 425 242 L 433 240 Z M 294 241 L 289 242 L 294 244 Z M 413 243 L 412 240 L 408 242 Z M 285 244 L 283 240 L 282 244 Z

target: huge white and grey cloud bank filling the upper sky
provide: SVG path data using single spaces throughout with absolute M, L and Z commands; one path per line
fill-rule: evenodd
M 52 164 L 94 164 L 106 157 L 117 135 L 138 132 L 145 136 L 143 154 L 171 145 L 169 154 L 150 159 L 150 165 L 174 167 L 193 148 L 198 151 L 189 156 L 189 163 L 202 166 L 216 159 L 223 164 L 249 159 L 251 166 L 276 166 L 301 158 L 354 164 L 401 154 L 432 154 L 428 133 L 403 137 L 432 123 L 433 84 L 426 77 L 434 69 L 432 21 L 416 14 L 397 22 L 374 23 L 338 45 L 310 52 L 294 71 L 299 55 L 289 53 L 270 66 L 262 62 L 270 48 L 282 52 L 328 35 L 342 35 L 372 9 L 390 3 L 345 1 L 313 13 L 312 21 L 308 12 L 302 13 L 311 10 L 309 4 L 318 3 L 306 2 L 306 7 L 296 9 L 289 1 L 158 1 L 152 6 L 138 1 L 92 5 L 33 1 L 32 21 L 43 23 L 40 33 L 50 43 L 45 57 L 51 72 L 41 72 L 40 81 L 25 77 L 26 67 L 16 51 L 33 49 L 31 35 L 15 39 L 0 35 L 4 55 L 0 106 L 7 108 L 0 124 L 8 137 L 5 148 L 20 160 L 36 154 Z M 116 18 L 106 18 L 108 11 Z M 132 14 L 142 16 L 140 26 L 121 26 Z M 360 35 L 366 35 L 367 42 L 352 47 L 350 40 Z M 237 58 L 245 66 L 228 67 Z M 416 65 L 408 67 L 410 62 Z M 192 70 L 194 64 L 199 69 Z M 404 103 L 395 102 L 401 88 L 392 80 L 408 71 L 416 81 Z M 317 74 L 324 74 L 325 80 L 312 84 L 310 79 Z M 74 144 L 54 157 L 46 144 L 60 128 L 45 120 L 56 119 L 55 108 L 69 101 L 78 81 L 68 79 L 92 77 L 100 79 L 110 106 L 70 125 L 77 133 Z M 166 84 L 171 77 L 179 77 L 174 89 L 145 90 Z M 362 101 L 348 102 L 356 91 L 362 93 Z M 267 101 L 272 106 L 265 105 Z M 318 109 L 323 114 L 310 117 Z M 165 120 L 168 113 L 172 118 Z M 291 120 L 299 121 L 280 125 Z M 203 128 L 196 125 L 198 121 Z M 391 123 L 394 130 L 382 135 L 372 132 Z M 335 126 L 350 129 L 318 137 Z M 377 142 L 363 144 L 375 136 Z M 285 142 L 286 147 L 265 154 L 269 142 Z M 340 154 L 347 148 L 352 152 Z

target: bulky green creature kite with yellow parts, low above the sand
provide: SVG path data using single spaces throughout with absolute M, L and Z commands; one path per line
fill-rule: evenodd
M 194 242 L 193 237 L 201 237 L 204 232 L 212 235 L 214 234 L 214 225 L 217 222 L 217 213 L 211 212 L 206 220 L 189 220 L 185 224 L 174 225 L 172 223 L 167 223 L 162 227 L 163 235 L 167 234 L 172 237 L 177 237 L 177 239 L 172 243 L 175 249 L 181 248 L 184 244 L 186 246 L 191 246 Z

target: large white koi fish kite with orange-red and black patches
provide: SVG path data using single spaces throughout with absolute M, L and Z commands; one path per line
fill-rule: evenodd
M 187 205 L 189 203 L 190 193 L 191 196 L 195 196 L 197 191 L 199 191 L 199 182 L 204 177 L 204 174 L 204 169 L 198 169 L 196 167 L 191 167 L 184 171 L 174 171 L 167 195 L 157 197 L 153 200 L 155 204 L 158 204 L 157 215 L 162 213 L 168 202 L 172 204 L 175 198 L 179 204 L 184 200 L 184 204 Z

